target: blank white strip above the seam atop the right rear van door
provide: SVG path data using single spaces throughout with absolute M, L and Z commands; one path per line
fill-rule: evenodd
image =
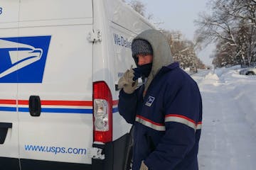
M 21 0 L 20 21 L 92 18 L 92 0 Z

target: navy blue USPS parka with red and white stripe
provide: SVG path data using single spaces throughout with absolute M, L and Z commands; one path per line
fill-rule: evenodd
M 149 30 L 146 35 L 152 33 L 154 30 Z M 143 33 L 137 38 L 151 40 Z M 142 161 L 150 170 L 196 170 L 201 94 L 196 82 L 177 62 L 154 65 L 158 53 L 155 44 L 150 43 L 154 60 L 149 84 L 132 94 L 123 90 L 119 93 L 119 113 L 134 125 L 133 170 L 139 170 Z

